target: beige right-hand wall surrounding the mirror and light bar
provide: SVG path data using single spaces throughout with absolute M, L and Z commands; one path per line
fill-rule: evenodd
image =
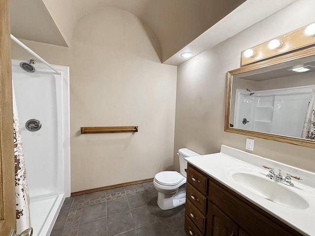
M 174 152 L 214 153 L 221 144 L 245 150 L 247 136 L 224 132 L 226 72 L 240 67 L 242 51 L 314 22 L 314 7 L 299 0 L 178 66 Z M 254 140 L 254 154 L 315 171 L 315 149 Z

